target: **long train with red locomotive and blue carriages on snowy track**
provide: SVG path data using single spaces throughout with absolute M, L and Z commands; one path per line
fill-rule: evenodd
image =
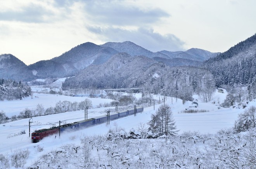
M 143 111 L 143 107 L 138 107 L 136 109 L 129 109 L 129 110 L 125 110 L 125 111 L 120 111 L 117 113 L 112 113 L 109 116 L 107 115 L 102 115 L 102 116 L 98 116 L 95 118 L 90 118 L 90 119 L 85 119 L 85 120 L 81 120 L 81 121 L 76 121 L 74 123 L 68 123 L 65 125 L 60 125 L 58 127 L 52 127 L 52 128 L 47 128 L 47 129 L 41 129 L 41 130 L 36 130 L 31 134 L 31 139 L 33 143 L 39 142 L 40 140 L 42 140 L 42 138 L 47 137 L 49 135 L 53 135 L 59 132 L 63 132 L 63 131 L 72 131 L 72 130 L 79 130 L 81 128 L 86 128 L 89 126 L 93 126 L 93 125 L 98 125 L 101 123 L 105 123 L 108 120 L 114 120 L 114 119 L 118 119 L 118 118 L 122 118 L 125 116 L 129 116 L 129 115 L 133 115 L 135 113 L 140 113 Z

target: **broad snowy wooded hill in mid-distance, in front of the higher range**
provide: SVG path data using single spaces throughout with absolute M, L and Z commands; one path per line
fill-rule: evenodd
M 192 91 L 199 89 L 207 80 L 202 77 L 207 75 L 209 71 L 197 67 L 169 67 L 162 61 L 145 56 L 118 53 L 106 63 L 90 65 L 75 77 L 66 79 L 62 89 L 140 87 L 145 92 L 164 92 L 170 95 L 179 90 L 176 93 L 178 97 L 191 100 Z

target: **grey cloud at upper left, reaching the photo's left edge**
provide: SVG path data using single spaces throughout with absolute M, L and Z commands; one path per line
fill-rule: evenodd
M 0 20 L 16 20 L 21 22 L 45 22 L 44 15 L 53 15 L 51 11 L 35 4 L 24 7 L 22 11 L 0 12 Z

